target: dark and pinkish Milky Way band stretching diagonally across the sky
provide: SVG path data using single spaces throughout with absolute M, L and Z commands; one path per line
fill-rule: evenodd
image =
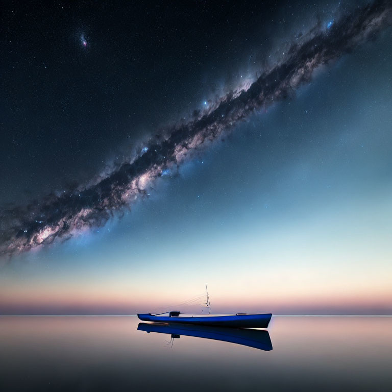
M 285 58 L 268 70 L 260 70 L 250 86 L 226 94 L 208 111 L 195 111 L 188 121 L 166 129 L 146 143 L 139 155 L 99 180 L 72 191 L 53 192 L 27 206 L 3 210 L 1 254 L 29 251 L 104 225 L 113 214 L 146 197 L 158 177 L 178 167 L 207 141 L 230 131 L 255 110 L 292 96 L 300 85 L 310 81 L 317 67 L 375 39 L 390 24 L 392 5 L 388 1 L 357 8 L 327 27 L 318 23 L 307 35 L 295 37 Z

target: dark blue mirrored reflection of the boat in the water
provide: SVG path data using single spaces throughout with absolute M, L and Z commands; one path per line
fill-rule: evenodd
M 221 340 L 237 345 L 253 347 L 263 351 L 271 351 L 272 343 L 268 331 L 244 328 L 208 327 L 191 324 L 161 324 L 139 323 L 139 331 L 166 333 L 171 335 L 173 345 L 175 338 L 180 335 L 202 337 L 205 339 Z

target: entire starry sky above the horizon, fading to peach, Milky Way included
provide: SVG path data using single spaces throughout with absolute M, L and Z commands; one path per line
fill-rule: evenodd
M 392 313 L 392 7 L 5 2 L 0 313 Z

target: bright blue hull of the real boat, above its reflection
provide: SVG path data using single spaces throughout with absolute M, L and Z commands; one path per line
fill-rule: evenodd
M 228 328 L 267 328 L 272 313 L 265 314 L 233 314 L 222 316 L 193 316 L 193 317 L 169 317 L 152 315 L 151 313 L 138 313 L 141 321 L 152 321 L 155 323 L 180 323 L 207 325 L 213 327 Z

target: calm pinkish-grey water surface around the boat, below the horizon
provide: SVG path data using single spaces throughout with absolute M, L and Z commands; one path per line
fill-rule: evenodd
M 274 317 L 271 351 L 138 324 L 0 317 L 0 390 L 392 390 L 392 317 Z

